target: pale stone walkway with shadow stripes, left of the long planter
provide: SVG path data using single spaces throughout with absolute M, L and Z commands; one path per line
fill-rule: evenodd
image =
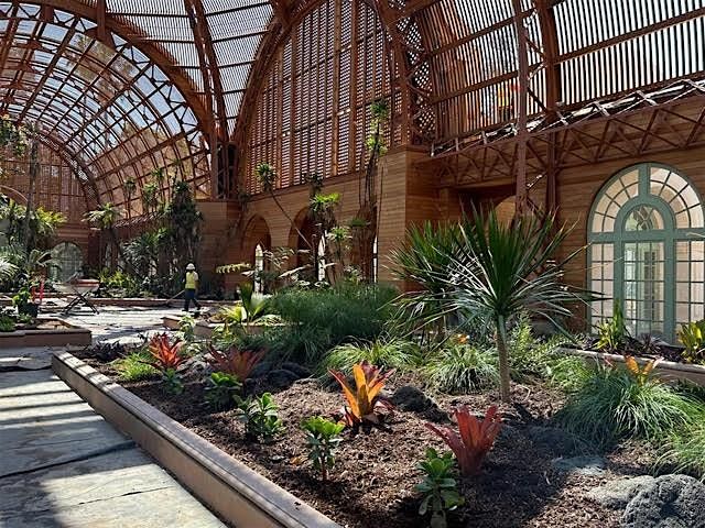
M 159 317 L 135 320 L 138 331 Z M 0 527 L 223 527 L 52 374 L 50 353 L 0 350 Z

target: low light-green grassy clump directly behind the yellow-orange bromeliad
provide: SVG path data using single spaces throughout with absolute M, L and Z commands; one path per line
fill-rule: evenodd
M 367 361 L 372 365 L 400 371 L 410 370 L 419 364 L 419 346 L 402 339 L 378 339 L 356 344 L 340 344 L 333 349 L 323 362 L 325 370 L 351 372 L 352 366 Z

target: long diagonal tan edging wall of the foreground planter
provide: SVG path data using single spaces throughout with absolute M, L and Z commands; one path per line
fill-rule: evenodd
M 68 352 L 52 369 L 200 501 L 238 528 L 341 528 Z

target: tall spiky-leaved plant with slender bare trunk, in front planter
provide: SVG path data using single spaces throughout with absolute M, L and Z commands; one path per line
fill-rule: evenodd
M 438 248 L 452 252 L 449 258 L 434 258 L 437 263 L 445 260 L 442 270 L 423 271 L 427 279 L 435 280 L 436 288 L 425 299 L 416 298 L 416 302 L 425 300 L 424 308 L 431 310 L 419 314 L 426 324 L 435 324 L 452 314 L 491 321 L 505 403 L 511 399 L 507 349 L 511 322 L 525 312 L 547 319 L 567 334 L 561 319 L 574 317 L 571 305 L 596 298 L 563 280 L 565 264 L 584 250 L 556 260 L 570 233 L 565 226 L 556 228 L 552 216 L 542 220 L 518 216 L 511 223 L 502 223 L 494 210 L 488 215 L 474 211 L 458 226 L 457 242 Z M 402 266 L 402 276 L 409 273 L 405 267 Z M 414 276 L 406 278 L 413 280 Z

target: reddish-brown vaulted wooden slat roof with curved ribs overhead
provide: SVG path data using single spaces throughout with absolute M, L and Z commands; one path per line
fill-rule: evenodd
M 291 133 L 281 119 L 285 90 L 268 89 L 272 58 L 325 2 L 364 6 L 375 18 L 392 142 L 427 148 L 423 163 L 444 185 L 506 173 L 524 207 L 532 178 L 550 179 L 565 162 L 557 148 L 583 160 L 618 155 L 610 145 L 648 152 L 663 147 L 660 131 L 674 121 L 692 127 L 676 146 L 701 141 L 705 112 L 677 105 L 705 94 L 705 0 L 0 1 L 0 113 L 37 122 L 94 201 L 139 215 L 139 190 L 156 182 L 167 194 L 171 177 L 193 182 L 200 197 L 234 198 L 252 138 L 281 144 Z M 344 13 L 332 9 L 333 20 Z M 296 42 L 324 48 L 321 61 L 330 55 L 328 89 L 339 90 L 335 57 L 345 51 L 327 44 L 332 24 Z M 351 89 L 370 103 L 365 82 Z M 265 92 L 274 98 L 267 105 Z M 355 118 L 345 105 L 325 112 Z M 365 128 L 357 113 L 350 141 Z M 257 132 L 262 122 L 281 124 Z M 650 139 L 636 144 L 630 127 Z M 322 170 L 336 174 L 335 163 Z

